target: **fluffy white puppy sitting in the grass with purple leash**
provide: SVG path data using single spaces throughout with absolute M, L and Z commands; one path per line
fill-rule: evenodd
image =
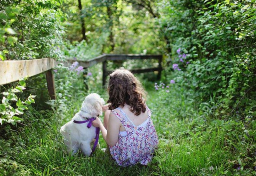
M 86 156 L 91 154 L 90 144 L 96 137 L 96 128 L 93 125 L 90 128 L 87 127 L 91 121 L 85 121 L 102 115 L 103 105 L 104 100 L 98 94 L 89 94 L 85 97 L 81 110 L 71 121 L 61 127 L 60 132 L 64 136 L 64 143 L 72 155 L 77 153 L 79 148 Z

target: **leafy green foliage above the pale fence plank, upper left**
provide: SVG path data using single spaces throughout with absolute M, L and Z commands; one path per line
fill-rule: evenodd
M 52 57 L 63 60 L 62 22 L 58 1 L 3 1 L 0 7 L 0 58 L 25 60 Z

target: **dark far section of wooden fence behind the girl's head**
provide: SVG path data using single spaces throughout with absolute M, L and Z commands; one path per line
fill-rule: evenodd
M 158 71 L 157 79 L 161 78 L 161 71 L 162 71 L 162 55 L 142 55 L 142 54 L 104 54 L 101 56 L 98 56 L 96 58 L 90 59 L 88 61 L 78 61 L 70 59 L 68 62 L 71 64 L 75 61 L 78 61 L 79 65 L 88 68 L 91 67 L 97 63 L 102 62 L 102 84 L 103 86 L 106 83 L 107 76 L 112 72 L 107 70 L 107 63 L 108 61 L 125 61 L 128 59 L 157 59 L 158 60 L 158 67 L 156 68 L 146 68 L 146 69 L 134 69 L 131 70 L 133 73 L 145 73 L 145 72 L 152 72 L 152 71 Z

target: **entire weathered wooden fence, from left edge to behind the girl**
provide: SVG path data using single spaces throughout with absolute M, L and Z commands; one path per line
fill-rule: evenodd
M 141 54 L 104 54 L 88 61 L 78 61 L 79 65 L 89 68 L 97 63 L 102 62 L 102 84 L 105 85 L 107 76 L 112 72 L 107 70 L 108 61 L 128 60 L 128 59 L 156 59 L 158 67 L 135 69 L 133 73 L 145 73 L 158 71 L 157 78 L 161 78 L 162 71 L 162 55 L 141 55 Z M 68 60 L 68 64 L 72 64 L 77 60 Z M 52 58 L 42 58 L 24 61 L 0 61 L 0 85 L 18 81 L 26 76 L 34 76 L 45 72 L 48 92 L 51 99 L 56 99 L 54 78 L 52 69 L 55 67 L 56 61 Z

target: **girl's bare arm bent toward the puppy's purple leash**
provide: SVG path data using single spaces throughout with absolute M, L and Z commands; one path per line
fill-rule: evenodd
M 92 122 L 92 125 L 100 128 L 102 137 L 108 145 L 114 146 L 117 143 L 121 122 L 112 112 L 108 119 L 108 130 L 106 130 L 98 117 Z

